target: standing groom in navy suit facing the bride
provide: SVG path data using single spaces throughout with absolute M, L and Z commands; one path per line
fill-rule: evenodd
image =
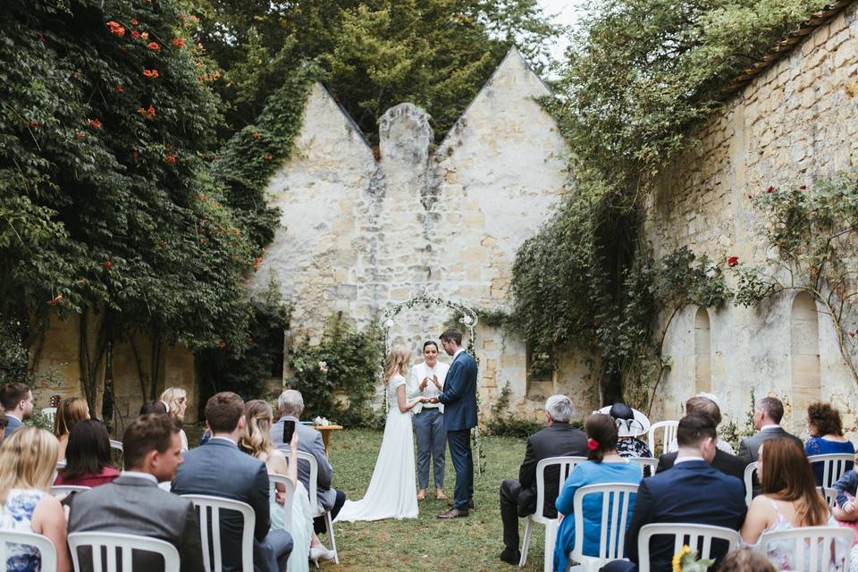
M 433 403 L 444 404 L 444 430 L 450 445 L 450 460 L 456 470 L 456 490 L 450 510 L 439 518 L 467 517 L 474 507 L 474 458 L 471 456 L 471 428 L 476 426 L 476 360 L 462 348 L 462 332 L 447 330 L 441 345 L 453 357 L 444 391 Z

